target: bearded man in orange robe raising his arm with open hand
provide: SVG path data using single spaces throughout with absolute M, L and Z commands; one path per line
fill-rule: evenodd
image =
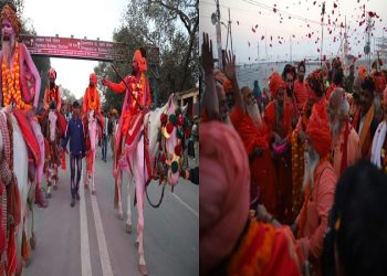
M 232 97 L 229 96 L 226 102 L 230 102 L 230 99 L 234 102 L 234 107 L 230 113 L 230 120 L 239 134 L 249 157 L 251 202 L 257 198 L 259 187 L 259 202 L 264 204 L 270 213 L 276 215 L 275 171 L 270 156 L 265 125 L 262 124 L 261 117 L 254 117 L 253 106 L 257 106 L 257 102 L 252 89 L 243 87 L 242 93 L 239 89 L 234 59 L 229 53 L 226 55 L 223 63 L 224 74 L 230 85 L 228 89 L 232 93 Z

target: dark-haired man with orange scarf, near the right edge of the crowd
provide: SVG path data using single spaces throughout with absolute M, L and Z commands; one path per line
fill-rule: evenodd
M 375 117 L 374 106 L 375 84 L 367 76 L 362 83 L 360 108 L 357 110 L 353 126 L 360 138 L 362 158 L 370 158 L 370 148 L 379 121 Z

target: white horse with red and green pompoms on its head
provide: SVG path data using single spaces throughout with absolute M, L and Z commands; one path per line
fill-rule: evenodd
M 168 183 L 176 185 L 179 179 L 181 164 L 181 139 L 189 135 L 188 119 L 185 118 L 185 108 L 177 106 L 176 95 L 170 95 L 168 103 L 153 112 L 143 110 L 133 118 L 133 124 L 126 137 L 124 160 L 118 162 L 117 178 L 115 183 L 115 208 L 118 219 L 123 220 L 122 206 L 122 179 L 123 171 L 128 173 L 127 182 L 127 220 L 126 230 L 132 232 L 130 212 L 130 183 L 135 182 L 138 222 L 137 240 L 139 263 L 138 267 L 143 275 L 147 275 L 147 266 L 144 256 L 144 201 L 147 185 L 151 178 L 159 179 L 164 188 Z M 128 140 L 130 142 L 128 142 Z M 161 197 L 163 197 L 161 195 Z M 149 199 L 148 199 L 149 200 Z M 161 202 L 161 199 L 160 199 Z M 157 205 L 160 204 L 160 202 Z M 150 201 L 149 201 L 150 203 Z

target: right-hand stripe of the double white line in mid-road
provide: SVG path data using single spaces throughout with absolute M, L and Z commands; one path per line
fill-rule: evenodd
M 96 195 L 91 195 L 91 197 L 92 197 L 92 209 L 94 214 L 95 231 L 97 234 L 97 242 L 98 242 L 98 248 L 100 248 L 102 273 L 104 276 L 112 276 L 113 275 L 112 263 L 107 252 L 106 238 L 104 234 L 104 229 L 102 226 L 102 220 L 101 220 Z

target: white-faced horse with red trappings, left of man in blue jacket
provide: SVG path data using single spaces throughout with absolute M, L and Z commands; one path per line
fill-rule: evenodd
M 50 109 L 45 116 L 42 126 L 45 139 L 45 177 L 48 182 L 48 198 L 51 198 L 51 187 L 57 189 L 59 174 L 57 168 L 61 166 L 62 152 L 60 149 L 60 140 L 63 136 L 59 117 L 55 109 Z

